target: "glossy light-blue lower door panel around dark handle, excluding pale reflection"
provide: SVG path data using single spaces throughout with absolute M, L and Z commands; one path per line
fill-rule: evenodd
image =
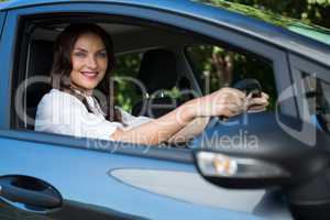
M 85 201 L 150 219 L 185 219 L 187 213 L 189 213 L 189 219 L 196 220 L 261 219 L 251 213 L 196 206 L 151 194 L 122 184 L 108 175 L 108 172 L 113 168 L 196 173 L 193 165 L 47 144 L 30 143 L 28 145 L 24 141 L 8 139 L 0 139 L 0 142 L 1 154 L 6 155 L 1 156 L 0 176 L 16 174 L 41 178 L 52 183 L 64 199 Z

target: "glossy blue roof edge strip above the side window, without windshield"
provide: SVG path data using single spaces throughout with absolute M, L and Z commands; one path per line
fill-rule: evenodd
M 4 9 L 18 9 L 25 7 L 47 6 L 55 3 L 81 3 L 92 2 L 125 4 L 141 8 L 150 8 L 154 10 L 168 11 L 175 14 L 183 14 L 198 20 L 211 22 L 221 26 L 228 26 L 251 36 L 257 37 L 270 44 L 284 47 L 298 54 L 316 59 L 329 66 L 330 46 L 288 31 L 284 28 L 266 23 L 251 16 L 241 14 L 241 12 L 233 12 L 222 8 L 213 8 L 202 3 L 194 2 L 191 0 L 15 0 L 2 6 Z M 0 4 L 1 10 L 1 4 Z

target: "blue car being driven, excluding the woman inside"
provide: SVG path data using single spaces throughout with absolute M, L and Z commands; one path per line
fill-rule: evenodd
M 268 110 L 160 145 L 34 131 L 54 41 L 78 22 L 113 37 L 116 100 L 136 116 L 242 79 Z M 11 0 L 0 30 L 0 219 L 330 218 L 329 30 L 220 0 Z

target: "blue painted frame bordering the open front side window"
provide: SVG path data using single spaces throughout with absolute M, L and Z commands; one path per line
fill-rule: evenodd
M 109 7 L 111 6 L 111 7 Z M 20 36 L 20 28 L 22 18 L 28 15 L 42 15 L 42 14 L 54 14 L 54 13 L 100 13 L 107 15 L 117 15 L 117 16 L 131 16 L 136 18 L 138 20 L 146 20 L 151 24 L 166 24 L 173 25 L 182 30 L 187 30 L 191 33 L 196 33 L 198 35 L 207 35 L 208 37 L 212 37 L 216 41 L 226 42 L 227 44 L 231 44 L 235 47 L 244 48 L 244 51 L 251 51 L 260 56 L 266 57 L 273 61 L 273 68 L 275 74 L 275 82 L 277 87 L 277 92 L 283 90 L 290 84 L 290 76 L 288 72 L 286 53 L 280 48 L 274 47 L 270 43 L 262 42 L 253 36 L 249 36 L 244 33 L 240 33 L 234 30 L 230 30 L 228 28 L 223 28 L 207 21 L 191 19 L 186 15 L 176 14 L 174 12 L 166 12 L 155 9 L 143 8 L 139 6 L 129 6 L 129 4 L 119 4 L 116 2 L 108 3 L 81 3 L 81 2 L 68 2 L 68 3 L 54 3 L 47 6 L 37 6 L 37 7 L 28 7 L 11 10 L 8 13 L 7 22 L 4 25 L 4 38 L 13 38 L 10 43 L 1 41 L 0 47 L 3 50 L 1 52 L 1 56 L 8 57 L 10 62 L 7 62 L 2 67 L 3 73 L 8 73 L 3 75 L 3 80 L 0 82 L 1 91 L 1 101 L 0 101 L 0 135 L 8 136 L 10 139 L 19 139 L 25 141 L 38 142 L 43 141 L 48 144 L 58 144 L 65 146 L 78 146 L 79 148 L 87 148 L 81 145 L 81 140 L 75 140 L 72 138 L 62 138 L 58 134 L 46 134 L 46 133 L 36 133 L 29 131 L 18 131 L 12 130 L 10 128 L 10 117 L 11 117 L 11 86 L 13 80 L 13 75 L 18 66 L 13 64 L 15 59 L 15 45 L 16 42 L 21 38 Z M 283 111 L 294 112 L 296 109 L 292 103 L 286 103 L 286 106 L 282 107 Z M 54 138 L 56 138 L 54 141 Z M 57 139 L 58 138 L 58 139 Z M 114 142 L 113 142 L 114 143 Z M 133 144 L 132 144 L 133 145 Z M 136 145 L 135 145 L 136 146 Z M 124 154 L 133 154 L 139 156 L 147 156 L 147 157 L 163 157 L 166 160 L 174 160 L 179 157 L 182 162 L 191 163 L 191 153 L 190 151 L 179 151 L 178 150 L 162 150 L 162 148 L 153 148 L 150 146 L 144 146 L 150 148 L 147 154 L 136 153 L 134 150 L 123 150 L 121 153 Z M 90 147 L 94 148 L 94 147 Z M 96 148 L 97 150 L 97 148 Z M 172 152 L 174 151 L 174 152 Z

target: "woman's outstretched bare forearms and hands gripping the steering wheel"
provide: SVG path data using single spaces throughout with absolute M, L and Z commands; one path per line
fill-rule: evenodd
M 243 112 L 246 109 L 245 99 L 245 95 L 238 89 L 222 88 L 208 96 L 193 99 L 169 113 L 131 130 L 117 129 L 111 139 L 131 143 L 160 144 L 198 117 L 223 116 L 230 118 Z M 254 98 L 250 102 L 254 106 L 267 105 L 267 100 L 264 98 Z

